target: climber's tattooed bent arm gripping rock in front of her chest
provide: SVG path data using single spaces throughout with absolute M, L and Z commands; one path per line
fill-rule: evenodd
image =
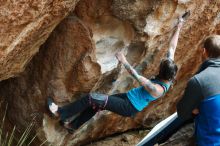
M 124 65 L 126 70 L 138 81 L 138 83 L 153 96 L 158 97 L 163 94 L 163 89 L 158 89 L 149 79 L 139 75 L 137 71 L 128 63 L 122 52 L 116 54 L 116 58 Z

